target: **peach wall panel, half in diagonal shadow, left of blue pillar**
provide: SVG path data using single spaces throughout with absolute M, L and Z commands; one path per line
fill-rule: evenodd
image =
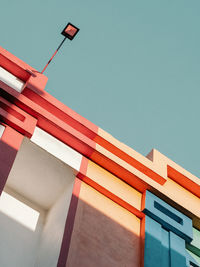
M 81 183 L 67 267 L 139 267 L 140 219 Z

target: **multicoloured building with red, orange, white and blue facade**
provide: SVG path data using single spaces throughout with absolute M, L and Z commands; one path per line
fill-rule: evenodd
M 0 48 L 0 266 L 200 266 L 200 180 L 45 92 Z

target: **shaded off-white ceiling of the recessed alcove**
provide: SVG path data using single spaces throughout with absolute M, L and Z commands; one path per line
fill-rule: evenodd
M 24 138 L 7 185 L 48 210 L 67 187 L 74 171 L 67 164 Z

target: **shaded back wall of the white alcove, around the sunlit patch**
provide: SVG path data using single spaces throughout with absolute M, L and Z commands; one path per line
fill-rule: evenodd
M 35 205 L 15 193 L 15 198 L 40 211 L 35 230 L 25 227 L 0 211 L 0 266 L 34 267 L 44 222 L 44 213 Z

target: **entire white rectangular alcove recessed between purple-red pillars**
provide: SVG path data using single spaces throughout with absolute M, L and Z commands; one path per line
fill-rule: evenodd
M 0 266 L 57 266 L 75 174 L 24 138 L 0 198 Z

